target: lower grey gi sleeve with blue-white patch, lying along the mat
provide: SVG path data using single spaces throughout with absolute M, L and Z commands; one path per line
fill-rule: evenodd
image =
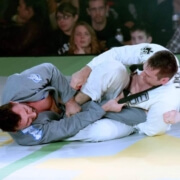
M 34 123 L 10 135 L 20 145 L 39 145 L 60 141 L 75 135 L 84 127 L 102 118 L 104 114 L 105 111 L 95 102 L 85 104 L 82 112 L 60 120 L 53 112 L 43 112 L 38 117 L 42 123 Z M 52 118 L 54 119 L 51 120 Z

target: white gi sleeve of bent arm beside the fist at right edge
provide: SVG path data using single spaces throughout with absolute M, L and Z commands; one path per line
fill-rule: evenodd
M 147 112 L 147 119 L 144 123 L 135 126 L 139 133 L 144 133 L 148 136 L 160 135 L 168 131 L 171 125 L 166 124 L 163 120 L 163 114 L 171 110 L 180 109 L 180 89 L 172 88 L 168 96 L 164 96 L 161 101 L 151 105 Z

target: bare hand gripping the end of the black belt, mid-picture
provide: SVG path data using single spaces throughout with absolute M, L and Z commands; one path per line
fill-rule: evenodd
M 125 104 L 118 104 L 116 99 L 111 99 L 102 105 L 102 108 L 104 111 L 120 112 L 123 106 L 125 106 Z

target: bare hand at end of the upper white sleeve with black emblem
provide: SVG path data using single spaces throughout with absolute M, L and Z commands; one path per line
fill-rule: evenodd
M 90 72 L 91 68 L 88 66 L 85 66 L 80 71 L 75 72 L 72 75 L 70 86 L 75 90 L 81 89 L 82 85 L 86 82 Z

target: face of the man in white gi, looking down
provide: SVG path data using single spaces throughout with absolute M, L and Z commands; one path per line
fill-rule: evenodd
M 141 73 L 141 77 L 144 80 L 144 83 L 150 86 L 157 86 L 163 84 L 162 78 L 158 78 L 158 69 L 153 69 L 152 67 L 148 66 L 147 63 L 144 64 L 144 70 Z

